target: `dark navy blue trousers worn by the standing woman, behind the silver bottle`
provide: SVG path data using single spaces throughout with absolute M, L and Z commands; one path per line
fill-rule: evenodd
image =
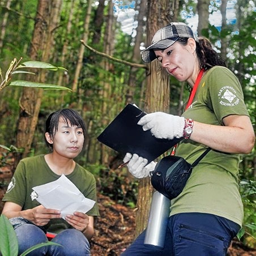
M 164 249 L 144 246 L 144 231 L 122 256 L 224 256 L 239 230 L 233 221 L 212 214 L 176 214 L 169 217 Z

